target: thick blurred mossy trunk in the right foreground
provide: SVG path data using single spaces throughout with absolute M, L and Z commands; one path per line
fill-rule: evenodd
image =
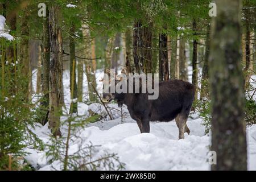
M 212 88 L 212 170 L 246 170 L 243 74 L 241 67 L 241 0 L 218 0 L 210 45 Z M 220 46 L 221 45 L 221 46 Z

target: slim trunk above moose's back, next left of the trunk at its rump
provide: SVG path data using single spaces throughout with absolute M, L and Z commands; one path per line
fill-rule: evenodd
M 180 37 L 180 49 L 179 49 L 179 70 L 180 70 L 180 80 L 188 81 L 188 69 L 186 64 L 185 55 L 185 39 Z

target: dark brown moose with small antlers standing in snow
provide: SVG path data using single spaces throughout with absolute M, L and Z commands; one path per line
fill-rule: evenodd
M 115 84 L 119 81 L 115 80 Z M 155 100 L 148 100 L 150 93 L 128 92 L 103 93 L 101 100 L 105 103 L 115 100 L 119 107 L 125 104 L 141 133 L 150 133 L 150 121 L 169 122 L 175 119 L 179 139 L 184 139 L 184 133 L 190 133 L 187 119 L 195 97 L 195 86 L 182 80 L 168 80 L 159 82 L 158 91 L 159 96 Z

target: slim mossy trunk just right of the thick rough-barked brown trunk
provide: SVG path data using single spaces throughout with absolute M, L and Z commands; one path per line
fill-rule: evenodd
M 76 44 L 75 39 L 75 26 L 72 25 L 70 28 L 69 35 L 69 84 L 70 84 L 70 92 L 71 92 L 71 106 L 69 113 L 77 113 L 77 83 L 76 83 Z

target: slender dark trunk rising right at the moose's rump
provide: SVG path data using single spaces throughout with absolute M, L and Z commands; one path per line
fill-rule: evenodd
M 196 20 L 193 19 L 193 35 L 196 35 Z M 195 100 L 197 99 L 197 40 L 193 39 L 193 55 L 192 55 L 192 84 L 195 85 Z

